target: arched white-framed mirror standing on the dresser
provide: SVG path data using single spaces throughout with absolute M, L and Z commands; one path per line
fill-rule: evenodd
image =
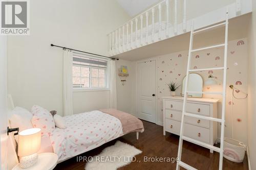
M 203 91 L 203 78 L 196 73 L 189 74 L 188 78 L 188 86 L 187 91 L 196 91 L 196 92 L 202 92 Z M 186 76 L 184 77 L 182 81 L 182 96 L 184 95 L 185 91 L 185 84 L 186 84 Z M 202 93 L 188 93 L 188 96 L 193 98 L 202 98 Z

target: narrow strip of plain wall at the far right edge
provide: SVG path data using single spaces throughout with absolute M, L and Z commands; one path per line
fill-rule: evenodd
M 253 12 L 249 21 L 248 61 L 248 149 L 251 169 L 256 169 L 256 2 L 252 1 Z

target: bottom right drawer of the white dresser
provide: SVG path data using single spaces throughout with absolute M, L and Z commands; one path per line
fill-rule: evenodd
M 184 124 L 184 136 L 210 143 L 210 130 L 194 125 Z

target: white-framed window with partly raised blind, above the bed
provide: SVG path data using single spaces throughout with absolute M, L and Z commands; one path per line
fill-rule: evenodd
M 108 88 L 108 60 L 74 53 L 73 88 Z

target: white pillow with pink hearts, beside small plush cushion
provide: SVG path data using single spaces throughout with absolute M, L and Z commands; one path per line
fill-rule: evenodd
M 52 114 L 40 106 L 33 106 L 31 109 L 32 117 L 32 125 L 34 128 L 41 129 L 41 135 L 51 135 L 51 133 L 55 130 L 55 124 L 52 117 Z

